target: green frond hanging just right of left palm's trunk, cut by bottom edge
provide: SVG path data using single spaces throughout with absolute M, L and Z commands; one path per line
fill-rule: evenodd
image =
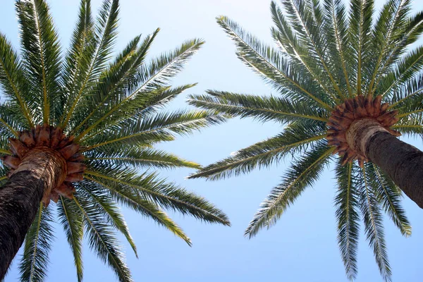
M 50 209 L 41 204 L 34 222 L 25 236 L 23 257 L 20 261 L 20 281 L 44 281 L 47 277 L 51 240 L 54 238 Z

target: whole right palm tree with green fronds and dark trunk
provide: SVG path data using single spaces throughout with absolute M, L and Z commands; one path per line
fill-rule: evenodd
M 357 273 L 361 214 L 381 275 L 389 281 L 381 209 L 408 236 L 400 190 L 423 208 L 423 153 L 397 138 L 423 133 L 423 47 L 409 49 L 423 32 L 423 13 L 409 16 L 407 0 L 388 1 L 376 17 L 372 0 L 351 0 L 349 9 L 341 0 L 281 2 L 284 10 L 271 3 L 271 35 L 278 49 L 218 18 L 239 59 L 278 96 L 210 90 L 189 102 L 286 127 L 190 178 L 238 176 L 293 156 L 281 184 L 247 227 L 251 238 L 276 223 L 334 161 L 338 245 L 346 274 L 353 279 Z

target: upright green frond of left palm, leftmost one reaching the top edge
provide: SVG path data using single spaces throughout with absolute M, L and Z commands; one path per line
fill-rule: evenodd
M 30 75 L 32 97 L 39 109 L 42 109 L 42 113 L 38 113 L 42 116 L 42 122 L 49 123 L 50 107 L 59 104 L 61 100 L 59 37 L 45 1 L 17 1 L 16 11 L 20 24 L 24 63 Z

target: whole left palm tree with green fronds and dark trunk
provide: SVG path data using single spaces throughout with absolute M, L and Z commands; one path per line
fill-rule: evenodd
M 137 250 L 119 204 L 147 216 L 191 244 L 163 209 L 229 225 L 223 212 L 147 168 L 200 168 L 154 149 L 222 118 L 211 111 L 161 109 L 184 90 L 169 80 L 200 49 L 192 39 L 146 61 L 159 30 L 137 36 L 115 59 L 118 0 L 104 0 L 93 20 L 80 2 L 71 47 L 61 53 L 43 0 L 16 1 L 20 56 L 0 34 L 0 280 L 24 244 L 22 281 L 47 275 L 54 215 L 63 226 L 82 281 L 82 237 L 119 281 L 132 281 L 116 239 Z M 142 170 L 143 172 L 140 172 Z M 57 204 L 49 205 L 50 200 Z M 53 211 L 56 208 L 56 212 Z

